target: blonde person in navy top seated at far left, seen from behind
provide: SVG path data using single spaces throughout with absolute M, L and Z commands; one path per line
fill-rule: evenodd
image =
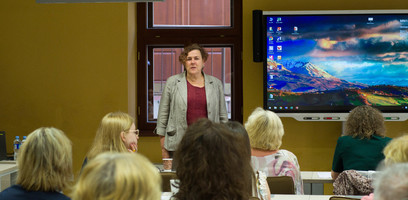
M 72 182 L 72 146 L 56 128 L 30 133 L 17 158 L 16 185 L 0 193 L 1 200 L 69 200 L 61 193 Z

